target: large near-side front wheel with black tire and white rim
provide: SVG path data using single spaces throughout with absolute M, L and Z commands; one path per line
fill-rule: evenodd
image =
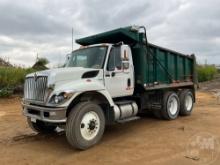
M 97 144 L 104 133 L 105 116 L 101 107 L 82 102 L 70 112 L 66 123 L 66 138 L 71 146 L 85 150 Z

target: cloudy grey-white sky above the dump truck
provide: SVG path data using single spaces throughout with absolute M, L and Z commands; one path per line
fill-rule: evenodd
M 56 67 L 71 52 L 72 27 L 75 40 L 144 25 L 149 42 L 220 64 L 219 6 L 219 0 L 0 0 L 0 57 L 25 67 L 46 57 Z

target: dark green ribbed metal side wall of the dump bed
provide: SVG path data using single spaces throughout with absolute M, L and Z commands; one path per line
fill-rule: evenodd
M 152 44 L 149 49 L 143 45 L 133 47 L 132 53 L 137 84 L 192 82 L 194 61 L 191 56 Z

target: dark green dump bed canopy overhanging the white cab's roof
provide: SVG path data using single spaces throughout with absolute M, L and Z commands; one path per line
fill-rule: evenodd
M 80 38 L 76 43 L 86 46 L 100 43 L 118 43 L 123 41 L 125 44 L 131 44 L 139 41 L 138 30 L 134 26 L 118 28 L 115 30 L 99 33 L 96 35 Z

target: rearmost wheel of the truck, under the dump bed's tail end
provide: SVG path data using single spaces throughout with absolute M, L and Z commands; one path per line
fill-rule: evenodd
M 180 92 L 180 115 L 188 116 L 191 115 L 193 110 L 193 94 L 192 91 L 187 89 Z

